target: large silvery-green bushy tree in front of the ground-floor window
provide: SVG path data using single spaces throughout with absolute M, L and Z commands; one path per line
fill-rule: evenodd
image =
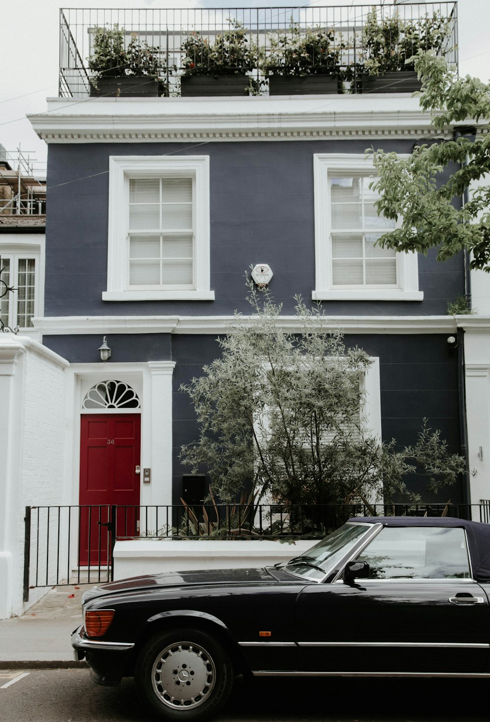
M 222 355 L 183 386 L 200 436 L 181 458 L 208 471 L 211 487 L 231 502 L 243 490 L 295 504 L 418 500 L 407 474 L 423 474 L 435 492 L 455 482 L 463 458 L 448 455 L 439 432 L 424 427 L 413 447 L 380 443 L 362 414 L 362 375 L 370 361 L 326 330 L 320 308 L 296 298 L 294 332 L 281 305 L 250 285 L 253 313 L 235 315 L 219 339 Z

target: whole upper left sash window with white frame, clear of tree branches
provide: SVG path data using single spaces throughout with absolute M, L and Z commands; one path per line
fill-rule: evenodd
M 209 157 L 110 158 L 103 300 L 213 300 Z

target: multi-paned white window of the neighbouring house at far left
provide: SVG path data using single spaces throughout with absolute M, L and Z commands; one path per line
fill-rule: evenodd
M 0 246 L 0 257 L 1 280 L 14 288 L 0 299 L 1 321 L 10 329 L 29 329 L 38 314 L 39 253 L 8 253 Z

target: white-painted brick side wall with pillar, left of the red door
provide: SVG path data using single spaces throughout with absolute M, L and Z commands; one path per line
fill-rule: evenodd
M 25 507 L 62 504 L 70 482 L 64 479 L 68 362 L 27 336 L 10 334 L 0 338 L 0 362 L 1 412 L 7 430 L 0 438 L 0 560 L 5 582 L 0 585 L 1 618 L 23 608 Z M 46 536 L 40 536 L 36 565 L 37 535 L 33 535 L 30 584 L 36 575 L 43 583 L 47 566 L 56 573 L 62 562 L 58 546 L 66 552 L 63 532 L 58 545 L 56 516 L 50 523 L 48 565 Z M 30 603 L 41 593 L 31 590 Z

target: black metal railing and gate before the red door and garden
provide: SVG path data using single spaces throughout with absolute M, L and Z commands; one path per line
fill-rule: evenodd
M 354 516 L 450 516 L 490 523 L 490 502 L 28 506 L 24 599 L 30 588 L 112 580 L 116 540 L 318 539 Z

